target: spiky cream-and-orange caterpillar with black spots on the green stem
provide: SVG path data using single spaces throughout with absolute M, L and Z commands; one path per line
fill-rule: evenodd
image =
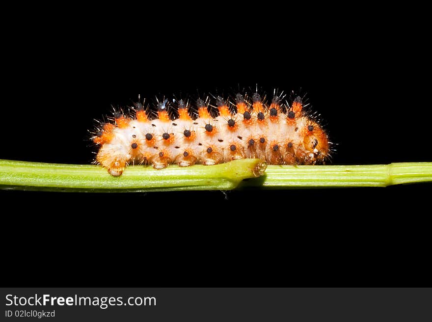
M 331 149 L 327 134 L 304 97 L 273 91 L 268 104 L 258 90 L 224 99 L 157 100 L 157 111 L 135 103 L 99 122 L 91 139 L 95 163 L 120 176 L 129 164 L 213 165 L 244 158 L 269 164 L 323 164 Z M 139 100 L 140 101 L 140 100 Z M 212 104 L 211 104 L 212 103 Z

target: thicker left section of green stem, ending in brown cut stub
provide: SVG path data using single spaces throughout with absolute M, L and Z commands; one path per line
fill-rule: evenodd
M 243 159 L 212 166 L 170 165 L 162 170 L 130 166 L 120 177 L 113 177 L 98 165 L 0 160 L 0 188 L 77 192 L 230 190 L 243 179 L 262 175 L 266 165 L 261 160 Z

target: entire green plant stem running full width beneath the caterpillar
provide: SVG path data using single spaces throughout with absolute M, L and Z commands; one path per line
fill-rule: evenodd
M 257 159 L 166 169 L 130 166 L 112 177 L 97 165 L 0 160 L 0 188 L 130 192 L 234 188 L 386 187 L 432 181 L 432 162 L 376 165 L 269 165 Z M 263 175 L 264 174 L 264 175 Z M 262 175 L 260 178 L 256 178 Z M 255 178 L 255 179 L 249 179 Z M 243 179 L 247 179 L 242 181 Z

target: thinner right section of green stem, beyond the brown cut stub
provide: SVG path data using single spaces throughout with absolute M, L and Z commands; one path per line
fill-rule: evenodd
M 241 188 L 387 187 L 432 181 L 432 162 L 373 165 L 269 165 Z

